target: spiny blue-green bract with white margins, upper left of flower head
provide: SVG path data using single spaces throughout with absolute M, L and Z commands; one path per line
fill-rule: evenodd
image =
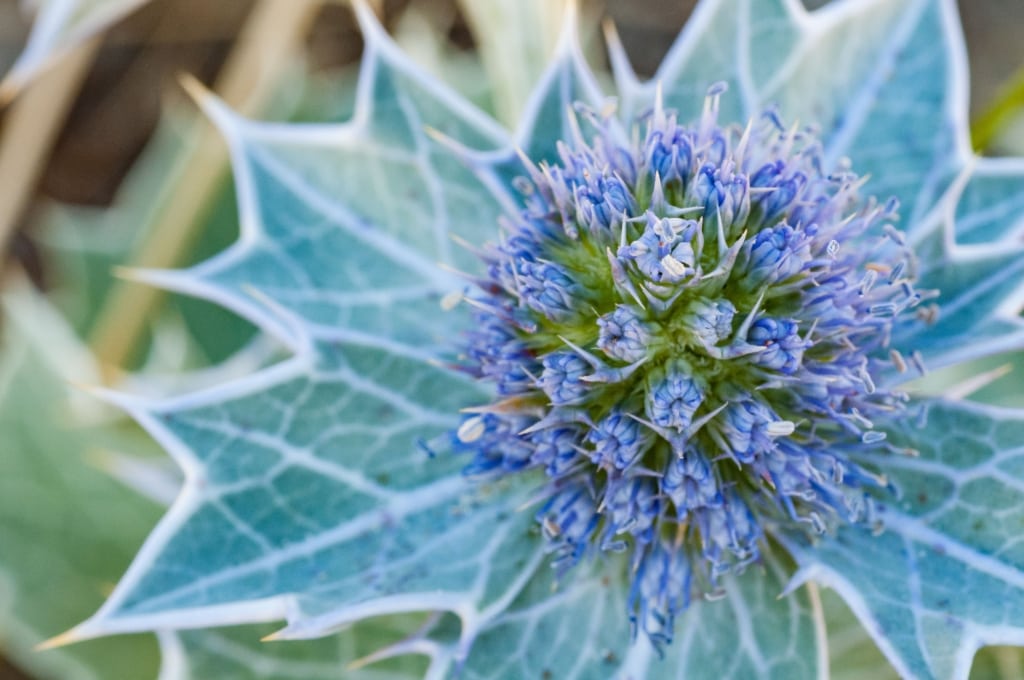
M 204 100 L 231 147 L 242 236 L 197 267 L 140 278 L 279 333 L 281 315 L 254 292 L 319 338 L 355 333 L 429 347 L 458 324 L 436 313 L 439 298 L 461 287 L 437 265 L 477 267 L 453 237 L 486 240 L 499 206 L 429 133 L 484 148 L 507 146 L 507 135 L 409 62 L 369 9 L 359 16 L 367 49 L 348 123 L 256 123 Z

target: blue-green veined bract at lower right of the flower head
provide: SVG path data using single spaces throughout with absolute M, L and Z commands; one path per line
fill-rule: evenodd
M 904 676 L 966 678 L 975 652 L 1024 643 L 1024 413 L 931 401 L 867 462 L 899 490 L 885 530 L 793 546 L 797 581 L 839 591 Z

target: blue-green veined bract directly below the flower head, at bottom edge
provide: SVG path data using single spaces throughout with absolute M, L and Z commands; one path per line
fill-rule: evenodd
M 725 584 L 722 601 L 695 602 L 662 654 L 630 632 L 620 564 L 541 572 L 477 637 L 466 678 L 753 679 L 825 677 L 816 592 L 779 598 L 785 570 L 769 561 Z M 610 568 L 609 568 L 610 567 Z M 580 567 L 581 570 L 588 568 Z

